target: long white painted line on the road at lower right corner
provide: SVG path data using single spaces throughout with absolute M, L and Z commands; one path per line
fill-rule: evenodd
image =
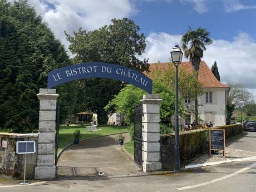
M 214 180 L 211 180 L 211 181 L 208 181 L 208 182 L 205 182 L 205 183 L 196 184 L 196 185 L 184 186 L 182 188 L 177 188 L 177 189 L 181 191 L 181 190 L 186 190 L 186 189 L 198 188 L 199 186 L 204 186 L 204 185 L 208 185 L 208 184 L 211 184 L 211 183 L 216 183 L 218 181 L 231 178 L 232 176 L 243 173 L 244 171 L 247 171 L 247 170 L 249 170 L 251 168 L 255 168 L 255 167 L 256 167 L 256 163 L 251 164 L 251 165 L 247 166 L 246 168 L 240 169 L 238 171 L 235 171 L 232 174 L 225 175 L 225 176 L 223 176 L 221 178 L 218 178 L 218 179 L 214 179 Z

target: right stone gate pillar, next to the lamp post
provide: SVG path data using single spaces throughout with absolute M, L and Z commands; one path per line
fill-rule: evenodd
M 159 95 L 144 95 L 140 100 L 142 116 L 142 170 L 144 173 L 161 170 L 160 162 L 160 104 Z

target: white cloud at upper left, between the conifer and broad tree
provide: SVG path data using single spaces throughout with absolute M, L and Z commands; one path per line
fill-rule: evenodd
M 136 10 L 129 0 L 28 0 L 38 14 L 65 45 L 64 31 L 71 33 L 79 27 L 91 31 L 111 23 L 112 18 L 129 17 Z

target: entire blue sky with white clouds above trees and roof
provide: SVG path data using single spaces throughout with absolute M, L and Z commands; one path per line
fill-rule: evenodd
M 169 62 L 170 50 L 191 27 L 206 28 L 213 44 L 206 47 L 209 67 L 217 62 L 222 82 L 243 83 L 256 99 L 255 0 L 28 0 L 65 45 L 66 31 L 91 31 L 112 18 L 128 17 L 146 36 L 140 58 Z M 68 52 L 70 54 L 70 52 Z M 185 61 L 185 59 L 184 59 Z

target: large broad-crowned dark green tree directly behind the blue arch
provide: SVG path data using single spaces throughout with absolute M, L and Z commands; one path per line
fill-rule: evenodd
M 141 55 L 146 47 L 144 34 L 139 34 L 139 26 L 132 20 L 112 19 L 112 24 L 94 31 L 81 28 L 67 35 L 71 43 L 70 51 L 75 55 L 74 63 L 105 62 L 115 63 L 132 68 L 136 71 L 148 71 L 147 60 L 140 61 L 136 55 Z M 99 123 L 107 121 L 104 107 L 113 99 L 124 83 L 106 79 L 87 79 L 77 83 L 77 111 L 90 110 L 98 114 Z

